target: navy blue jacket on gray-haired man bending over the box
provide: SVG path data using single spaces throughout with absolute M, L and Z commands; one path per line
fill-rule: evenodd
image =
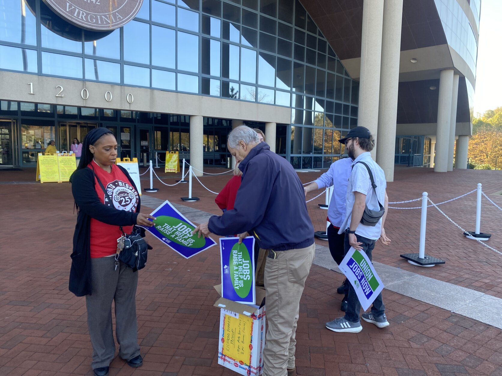
M 233 210 L 209 219 L 216 235 L 252 229 L 260 248 L 286 251 L 314 243 L 302 183 L 293 166 L 261 142 L 239 164 L 242 182 Z

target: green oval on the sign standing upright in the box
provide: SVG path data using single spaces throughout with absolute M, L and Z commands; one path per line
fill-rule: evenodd
M 238 296 L 245 298 L 252 287 L 253 265 L 244 243 L 235 243 L 232 247 L 228 260 L 228 268 L 230 269 L 233 289 Z

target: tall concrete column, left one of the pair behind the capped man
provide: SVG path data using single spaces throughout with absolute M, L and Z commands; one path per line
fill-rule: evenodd
M 361 72 L 358 125 L 369 129 L 376 139 L 382 59 L 384 0 L 366 0 L 362 7 Z M 401 25 L 401 21 L 399 21 Z M 375 158 L 376 149 L 371 156 Z

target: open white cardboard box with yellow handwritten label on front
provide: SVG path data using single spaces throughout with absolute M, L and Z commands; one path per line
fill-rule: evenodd
M 221 296 L 221 285 L 214 286 Z M 221 308 L 218 341 L 218 364 L 244 376 L 263 371 L 265 346 L 265 290 L 256 289 L 260 305 L 246 305 L 219 298 L 215 307 Z

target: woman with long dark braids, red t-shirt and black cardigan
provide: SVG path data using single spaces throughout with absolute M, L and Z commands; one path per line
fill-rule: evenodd
M 126 169 L 115 164 L 117 141 L 106 128 L 91 130 L 70 178 L 77 209 L 69 289 L 85 296 L 94 375 L 105 376 L 115 354 L 111 303 L 115 302 L 118 355 L 132 367 L 143 364 L 138 345 L 136 287 L 138 272 L 115 261 L 117 238 L 134 225 L 153 226 L 140 213 L 140 196 Z M 102 186 L 101 186 L 102 185 Z M 105 194 L 105 192 L 107 194 Z M 107 199 L 110 197 L 111 203 Z

